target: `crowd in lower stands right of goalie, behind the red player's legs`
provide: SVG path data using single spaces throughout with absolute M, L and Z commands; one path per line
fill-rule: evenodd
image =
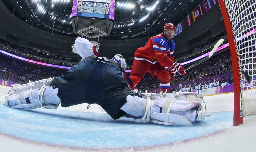
M 142 91 L 147 89 L 149 92 L 160 92 L 160 83 L 160 79 L 155 79 L 149 73 L 146 73 L 144 79 L 136 87 Z M 188 70 L 183 76 L 176 76 L 170 83 L 172 91 L 179 90 L 180 84 L 182 84 L 184 91 L 193 91 L 233 83 L 229 50 Z

